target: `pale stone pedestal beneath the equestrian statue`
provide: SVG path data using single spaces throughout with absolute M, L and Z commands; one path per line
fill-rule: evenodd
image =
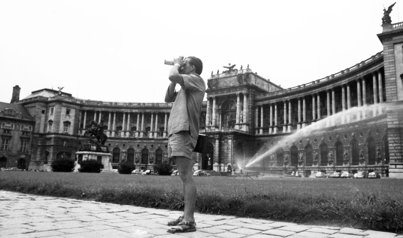
M 80 151 L 76 152 L 77 161 L 75 162 L 74 171 L 80 168 L 80 162 L 83 160 L 98 160 L 104 165 L 102 171 L 112 171 L 112 164 L 110 163 L 112 154 L 109 153 L 108 146 L 97 144 L 82 145 Z

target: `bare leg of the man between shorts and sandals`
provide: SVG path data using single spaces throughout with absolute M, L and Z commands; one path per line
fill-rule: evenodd
M 192 174 L 192 160 L 183 156 L 176 156 L 179 177 L 183 182 L 183 197 L 185 198 L 185 211 L 183 221 L 194 222 L 193 214 L 196 205 L 196 184 Z

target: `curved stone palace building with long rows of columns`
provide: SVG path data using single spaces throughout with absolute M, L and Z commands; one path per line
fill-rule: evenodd
M 195 168 L 283 173 L 376 171 L 403 178 L 403 22 L 384 23 L 384 50 L 322 79 L 293 88 L 246 69 L 228 67 L 207 81 L 200 133 L 207 152 Z M 335 69 L 338 70 L 338 69 Z M 90 121 L 104 126 L 112 166 L 151 168 L 167 158 L 171 103 L 116 103 L 33 91 L 0 104 L 0 166 L 50 170 L 58 157 L 75 159 Z M 251 161 L 256 162 L 251 162 Z

